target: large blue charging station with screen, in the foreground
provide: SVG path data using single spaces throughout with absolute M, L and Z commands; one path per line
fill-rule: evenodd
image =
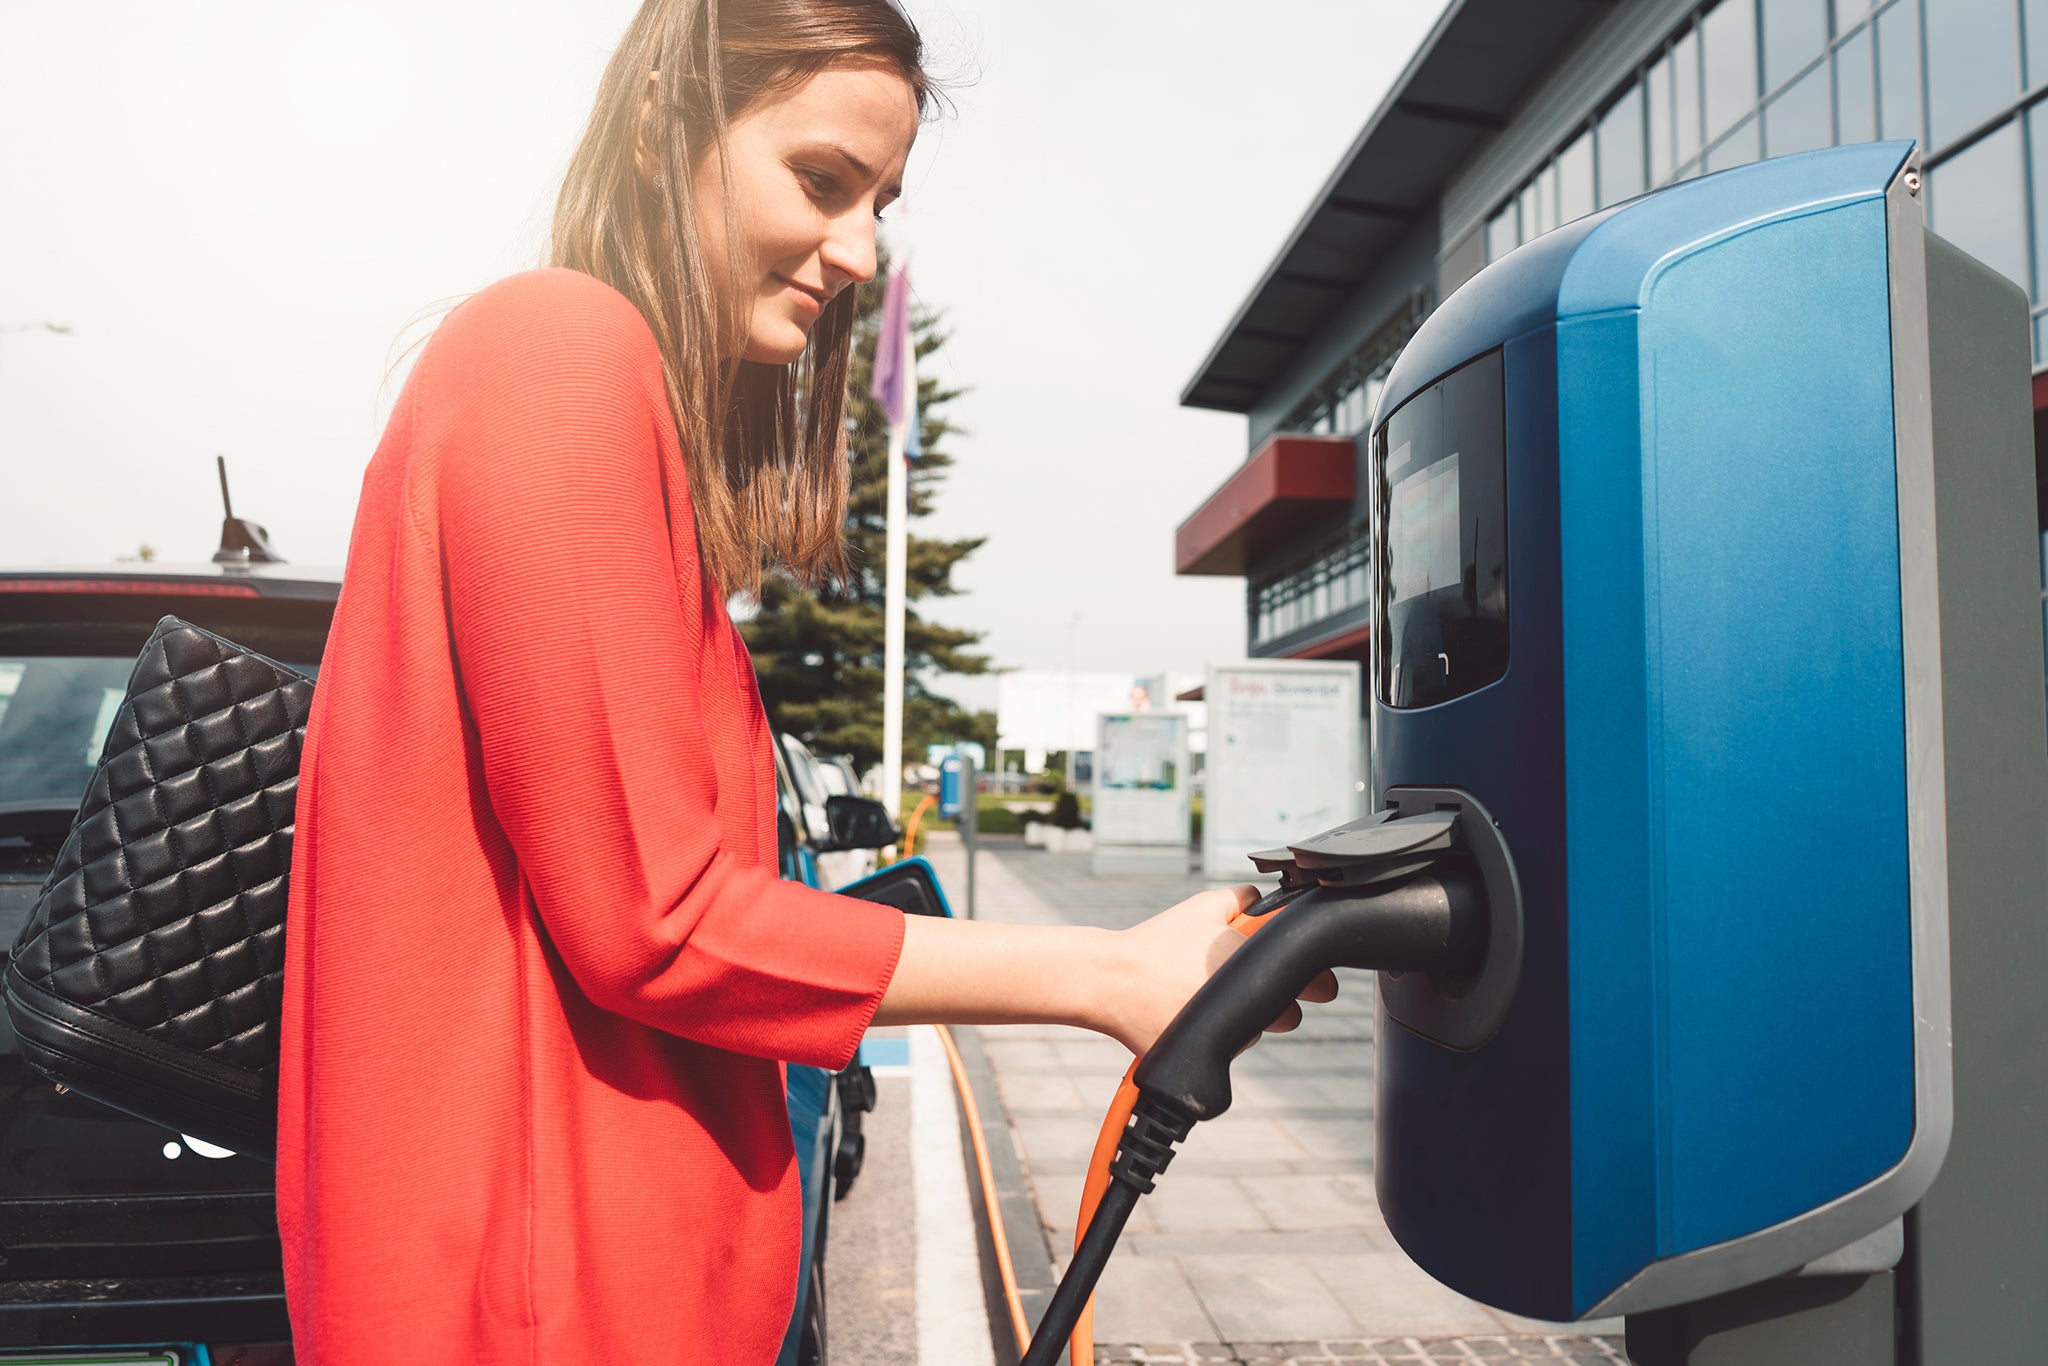
M 1518 899 L 1505 981 L 1380 981 L 1378 1196 L 1438 1280 L 1587 1319 L 1901 1260 L 1954 1120 L 1952 864 L 2048 791 L 2038 641 L 2032 694 L 1958 668 L 1987 584 L 2028 604 L 2025 375 L 1911 143 L 1606 209 L 1403 352 L 1374 805 L 1491 827 Z M 2017 756 L 2017 825 L 1958 745 Z

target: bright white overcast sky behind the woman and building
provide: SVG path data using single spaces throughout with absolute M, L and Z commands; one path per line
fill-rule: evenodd
M 406 340 L 539 264 L 633 8 L 0 0 L 0 563 L 205 559 L 215 453 L 340 563 Z M 1239 657 L 1243 582 L 1171 545 L 1245 424 L 1178 395 L 1444 6 L 907 8 L 961 82 L 905 188 L 971 391 L 924 530 L 989 537 L 932 614 L 1012 668 Z

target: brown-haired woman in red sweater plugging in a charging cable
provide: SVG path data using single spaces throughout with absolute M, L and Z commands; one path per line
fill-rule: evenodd
M 649 0 L 553 270 L 455 309 L 371 461 L 301 768 L 279 1221 L 301 1362 L 768 1362 L 780 1061 L 868 1024 L 1143 1051 L 1251 889 L 1120 934 L 774 877 L 725 602 L 846 569 L 852 287 L 930 86 L 887 0 Z

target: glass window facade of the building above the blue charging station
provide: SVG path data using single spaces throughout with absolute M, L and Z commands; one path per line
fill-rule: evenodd
M 1911 137 L 1927 223 L 2034 301 L 2048 358 L 2048 0 L 1702 4 L 1487 217 L 1487 260 L 1673 180 Z

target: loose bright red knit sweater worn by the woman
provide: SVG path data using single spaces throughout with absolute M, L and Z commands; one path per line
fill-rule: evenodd
M 303 1366 L 774 1358 L 776 1059 L 846 1065 L 903 924 L 776 881 L 768 743 L 641 315 L 571 270 L 463 303 L 365 475 L 299 778 Z

